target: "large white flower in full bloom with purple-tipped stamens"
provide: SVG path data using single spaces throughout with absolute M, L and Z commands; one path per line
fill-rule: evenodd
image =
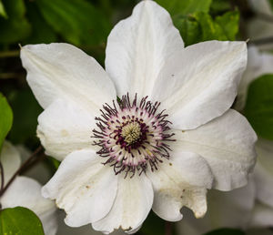
M 45 108 L 38 137 L 64 159 L 43 194 L 67 225 L 133 233 L 151 208 L 177 221 L 183 206 L 202 217 L 207 189 L 247 183 L 256 135 L 229 109 L 244 42 L 184 48 L 167 11 L 143 1 L 108 36 L 106 72 L 67 44 L 24 46 L 21 58 Z

